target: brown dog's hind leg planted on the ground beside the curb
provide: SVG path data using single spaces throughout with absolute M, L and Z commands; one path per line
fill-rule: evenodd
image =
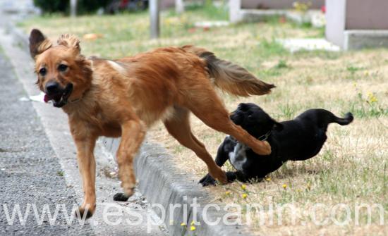
M 188 149 L 191 149 L 195 154 L 202 159 L 207 165 L 207 169 L 214 179 L 226 183 L 226 175 L 219 166 L 214 163 L 212 156 L 205 149 L 202 144 L 191 132 L 189 111 L 185 108 L 176 108 L 174 117 L 164 120 L 164 126 L 180 144 Z

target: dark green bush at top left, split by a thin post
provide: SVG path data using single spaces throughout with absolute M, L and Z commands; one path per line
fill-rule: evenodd
M 77 13 L 92 13 L 98 8 L 104 8 L 112 0 L 78 0 Z M 63 0 L 34 0 L 35 6 L 42 9 L 44 13 L 68 13 L 70 8 L 70 1 Z

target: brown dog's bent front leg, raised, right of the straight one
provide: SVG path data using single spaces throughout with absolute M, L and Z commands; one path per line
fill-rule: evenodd
M 126 201 L 133 194 L 136 185 L 133 158 L 143 142 L 145 130 L 145 125 L 140 120 L 128 120 L 121 125 L 121 142 L 117 150 L 117 163 L 123 194 L 114 195 L 116 201 Z

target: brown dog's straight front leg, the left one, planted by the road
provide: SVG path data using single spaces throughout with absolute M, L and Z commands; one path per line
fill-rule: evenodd
M 86 218 L 93 215 L 96 208 L 95 173 L 96 163 L 93 151 L 95 149 L 96 137 L 77 137 L 74 141 L 77 146 L 78 168 L 83 179 L 83 204 L 80 206 L 80 216 L 86 213 Z

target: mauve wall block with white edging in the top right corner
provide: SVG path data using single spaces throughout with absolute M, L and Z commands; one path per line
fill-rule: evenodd
M 387 0 L 326 0 L 326 38 L 344 50 L 388 46 Z

